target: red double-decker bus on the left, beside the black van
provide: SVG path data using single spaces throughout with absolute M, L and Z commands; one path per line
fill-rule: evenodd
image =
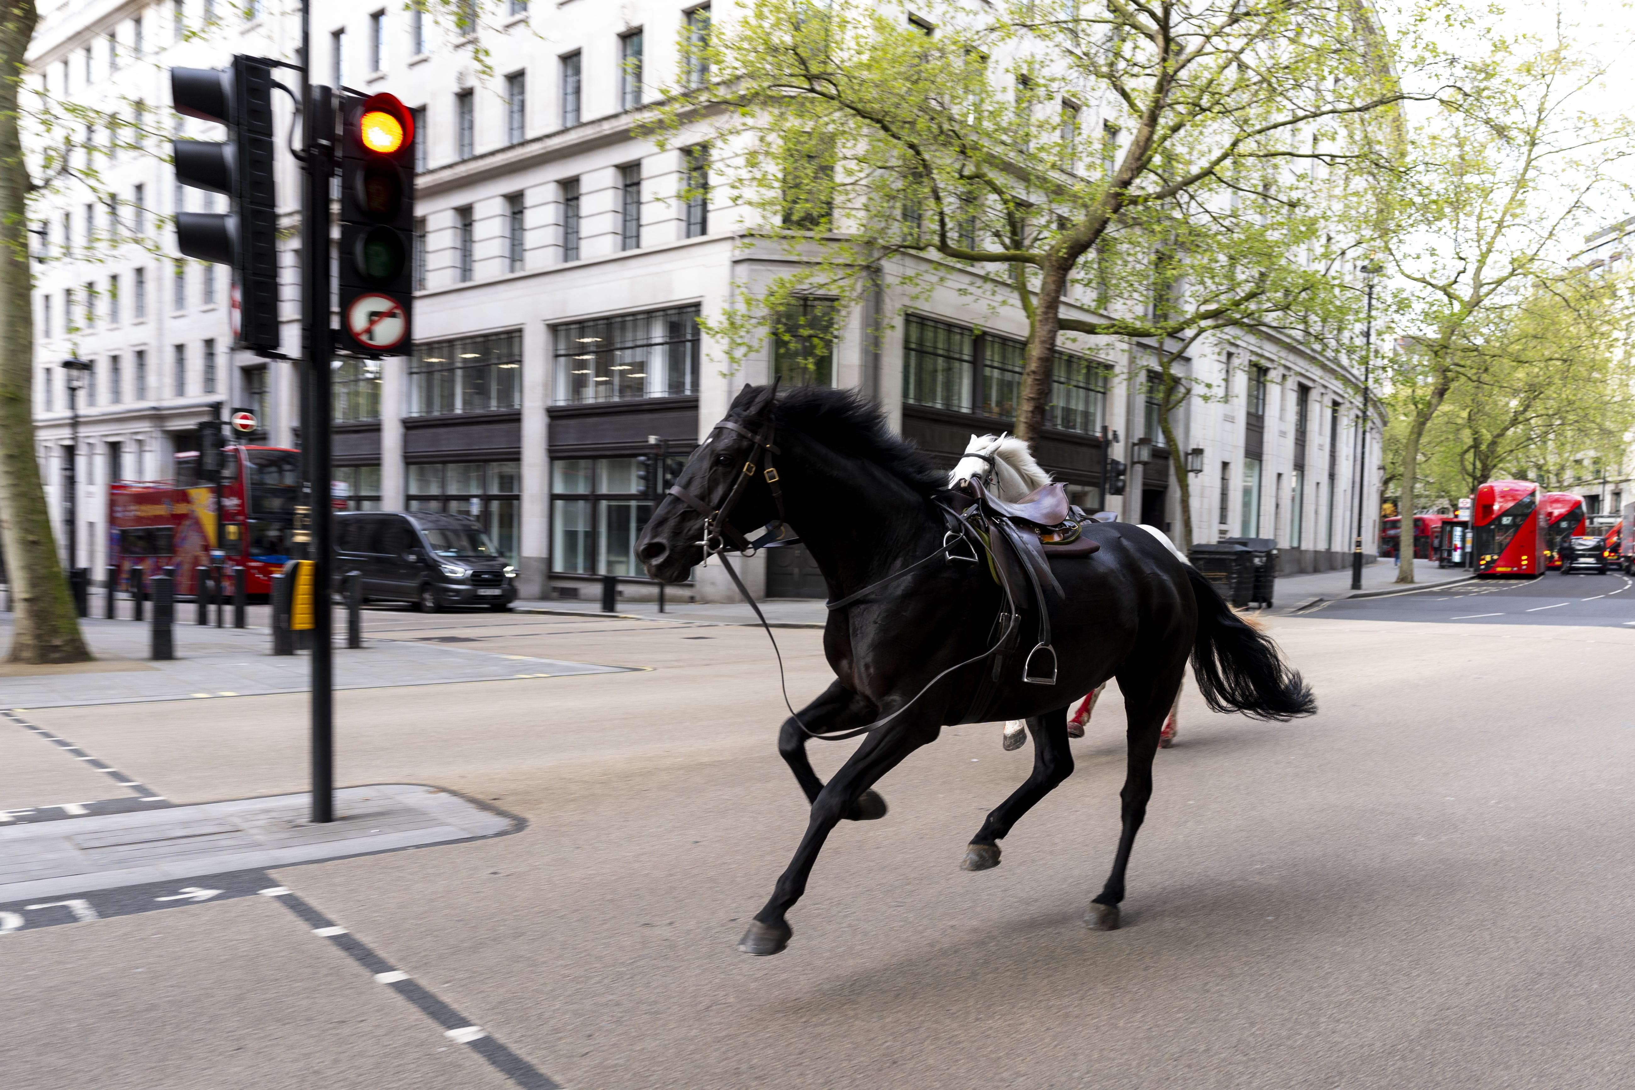
M 216 485 L 199 482 L 198 453 L 177 454 L 172 480 L 118 480 L 108 487 L 108 564 L 124 585 L 131 569 L 144 580 L 175 567 L 175 593 L 191 595 L 195 569 L 219 549 L 242 564 L 245 592 L 265 595 L 289 559 L 301 453 L 284 446 L 222 449 L 221 520 Z

